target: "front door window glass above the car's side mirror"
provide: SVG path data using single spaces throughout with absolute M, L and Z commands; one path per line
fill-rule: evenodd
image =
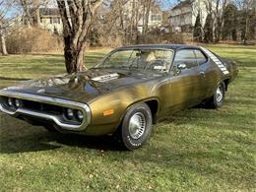
M 193 49 L 179 50 L 174 58 L 173 68 L 176 69 L 179 64 L 186 64 L 187 69 L 197 67 L 197 59 Z

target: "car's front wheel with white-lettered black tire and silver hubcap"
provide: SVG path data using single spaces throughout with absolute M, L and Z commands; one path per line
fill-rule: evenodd
M 124 115 L 120 127 L 121 140 L 128 150 L 142 147 L 152 133 L 153 118 L 146 103 L 131 106 Z

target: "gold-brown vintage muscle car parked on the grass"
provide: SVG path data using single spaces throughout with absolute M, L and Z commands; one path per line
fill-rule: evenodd
M 236 75 L 234 62 L 203 47 L 120 47 L 86 72 L 1 90 L 0 110 L 60 133 L 118 133 L 134 150 L 165 115 L 202 102 L 221 107 Z

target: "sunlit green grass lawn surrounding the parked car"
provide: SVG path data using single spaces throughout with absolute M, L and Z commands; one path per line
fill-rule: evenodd
M 255 191 L 256 46 L 211 46 L 239 75 L 220 110 L 166 117 L 148 144 L 121 151 L 110 137 L 65 136 L 0 113 L 1 191 Z M 92 66 L 107 51 L 92 51 Z M 0 87 L 65 72 L 61 55 L 0 56 Z

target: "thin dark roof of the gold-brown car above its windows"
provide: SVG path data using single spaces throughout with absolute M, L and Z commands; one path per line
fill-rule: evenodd
M 138 44 L 129 45 L 117 48 L 117 50 L 136 49 L 136 48 L 166 48 L 166 49 L 181 49 L 181 48 L 198 48 L 198 46 L 187 44 Z

